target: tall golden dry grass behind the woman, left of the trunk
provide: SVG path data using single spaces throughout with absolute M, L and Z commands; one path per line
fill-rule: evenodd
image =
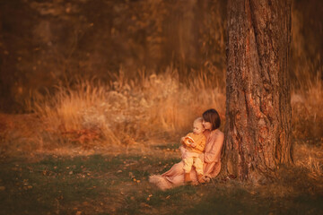
M 44 149 L 68 144 L 109 146 L 162 137 L 178 140 L 196 116 L 214 107 L 224 115 L 223 90 L 200 74 L 190 84 L 179 82 L 176 70 L 129 80 L 120 71 L 115 82 L 78 81 L 57 86 L 46 96 L 34 94 L 29 107 L 45 128 L 39 132 Z

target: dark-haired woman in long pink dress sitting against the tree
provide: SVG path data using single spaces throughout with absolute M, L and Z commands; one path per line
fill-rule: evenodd
M 208 109 L 203 113 L 203 125 L 205 127 L 205 153 L 204 153 L 204 176 L 211 178 L 217 176 L 221 170 L 221 150 L 223 147 L 224 134 L 218 129 L 221 119 L 218 112 Z M 149 182 L 157 185 L 160 189 L 166 190 L 179 185 L 184 185 L 184 163 L 180 161 L 174 164 L 169 171 L 162 175 L 149 177 Z M 196 171 L 190 172 L 192 184 L 198 184 Z

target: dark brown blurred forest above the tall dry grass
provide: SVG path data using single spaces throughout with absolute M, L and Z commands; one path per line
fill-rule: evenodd
M 322 1 L 292 1 L 296 88 L 322 78 L 322 14 Z M 134 78 L 171 67 L 180 82 L 202 71 L 224 88 L 225 0 L 2 0 L 0 16 L 4 112 L 25 112 L 31 92 L 75 75 L 110 82 L 120 70 Z

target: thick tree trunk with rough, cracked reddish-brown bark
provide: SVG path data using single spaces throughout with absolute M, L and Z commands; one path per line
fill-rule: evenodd
M 291 0 L 229 0 L 224 169 L 258 182 L 292 163 Z

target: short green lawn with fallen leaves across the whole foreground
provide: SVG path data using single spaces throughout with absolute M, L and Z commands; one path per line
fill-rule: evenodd
M 148 176 L 179 157 L 156 154 L 46 156 L 0 163 L 0 214 L 319 214 L 321 177 L 300 165 L 267 185 L 216 178 L 207 185 L 162 192 Z M 162 153 L 161 153 L 162 152 Z M 161 157 L 162 156 L 162 157 Z M 19 206 L 19 207 L 18 207 Z

